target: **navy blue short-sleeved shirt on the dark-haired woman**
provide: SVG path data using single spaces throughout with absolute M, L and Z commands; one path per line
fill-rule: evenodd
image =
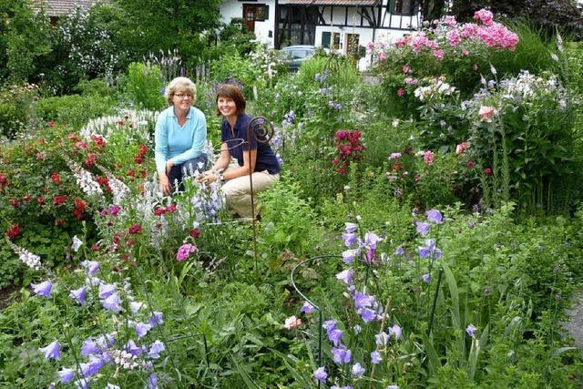
M 247 128 L 249 128 L 250 122 L 251 117 L 249 115 L 240 114 L 237 117 L 237 122 L 231 132 L 230 124 L 227 119 L 222 121 L 220 141 L 227 143 L 230 156 L 237 159 L 239 166 L 244 165 L 243 151 L 249 149 L 249 145 L 247 144 Z M 251 134 L 251 150 L 254 149 L 257 149 L 255 171 L 267 170 L 270 174 L 277 174 L 280 172 L 280 163 L 277 161 L 275 153 L 271 150 L 269 143 L 258 142 L 254 134 Z

